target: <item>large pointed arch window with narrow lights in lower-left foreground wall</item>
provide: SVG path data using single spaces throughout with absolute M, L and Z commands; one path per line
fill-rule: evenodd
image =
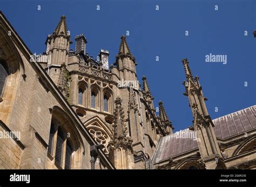
M 63 109 L 53 105 L 50 112 L 52 118 L 48 154 L 52 157 L 52 162 L 48 161 L 46 168 L 53 169 L 56 166 L 59 169 L 80 169 L 80 162 L 75 160 L 81 160 L 82 153 L 85 152 L 82 137 Z

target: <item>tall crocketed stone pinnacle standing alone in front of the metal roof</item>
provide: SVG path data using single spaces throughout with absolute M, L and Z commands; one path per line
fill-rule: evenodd
M 198 138 L 198 146 L 201 157 L 206 163 L 207 169 L 215 169 L 219 166 L 225 168 L 223 156 L 217 143 L 215 133 L 213 131 L 213 122 L 208 114 L 202 87 L 199 83 L 199 77 L 193 77 L 187 59 L 182 60 L 185 69 L 186 95 L 190 102 L 190 107 L 193 114 L 193 126 L 190 130 L 196 132 Z

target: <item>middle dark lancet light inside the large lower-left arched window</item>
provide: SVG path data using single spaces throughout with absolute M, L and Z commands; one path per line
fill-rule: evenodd
M 62 131 L 62 128 L 58 127 L 55 162 L 60 167 L 62 167 L 63 142 L 64 142 L 64 133 Z

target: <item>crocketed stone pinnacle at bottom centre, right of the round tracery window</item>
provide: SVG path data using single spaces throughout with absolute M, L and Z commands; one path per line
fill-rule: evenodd
M 114 101 L 113 138 L 109 143 L 110 160 L 117 169 L 134 169 L 132 140 L 126 127 L 122 99 L 117 97 Z

